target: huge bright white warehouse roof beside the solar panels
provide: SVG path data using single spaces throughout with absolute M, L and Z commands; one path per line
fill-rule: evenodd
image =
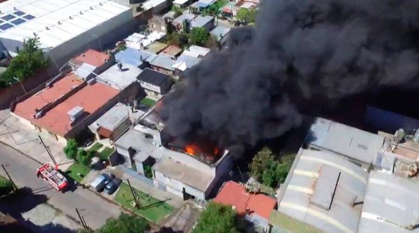
M 0 10 L 2 15 L 19 10 L 34 16 L 31 20 L 1 31 L 0 38 L 23 41 L 34 37 L 36 33 L 41 45 L 50 49 L 130 8 L 105 0 L 9 0 L 0 3 Z

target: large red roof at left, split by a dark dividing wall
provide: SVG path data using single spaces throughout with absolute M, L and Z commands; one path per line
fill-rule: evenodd
M 43 89 L 34 94 L 34 96 L 17 103 L 14 113 L 31 121 L 36 126 L 46 128 L 52 133 L 64 136 L 68 130 L 73 128 L 67 114 L 68 111 L 76 106 L 80 106 L 84 109 L 84 112 L 91 114 L 119 93 L 116 89 L 96 82 L 73 93 L 72 96 L 68 97 L 62 103 L 52 107 L 43 117 L 34 119 L 33 116 L 36 109 L 41 109 L 48 102 L 57 100 L 60 96 L 68 93 L 71 87 L 81 83 L 82 81 L 74 73 L 71 73 L 55 82 L 49 89 Z

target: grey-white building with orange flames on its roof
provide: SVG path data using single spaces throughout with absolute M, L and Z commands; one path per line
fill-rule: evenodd
M 233 158 L 229 151 L 212 144 L 174 146 L 163 128 L 156 111 L 152 111 L 119 137 L 114 146 L 124 158 L 124 166 L 135 163 L 142 181 L 183 200 L 207 200 L 221 186 L 221 177 L 230 171 Z M 152 177 L 146 177 L 146 167 L 152 167 Z

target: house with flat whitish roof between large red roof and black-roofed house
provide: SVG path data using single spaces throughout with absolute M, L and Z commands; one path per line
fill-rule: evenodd
M 141 72 L 142 70 L 140 68 L 131 64 L 117 63 L 96 77 L 96 80 L 122 91 L 134 82 L 137 82 L 137 77 Z

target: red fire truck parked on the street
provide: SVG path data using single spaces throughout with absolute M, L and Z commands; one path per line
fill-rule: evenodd
M 57 167 L 52 167 L 47 163 L 36 170 L 36 176 L 38 176 L 38 178 L 41 177 L 59 191 L 64 191 L 68 187 L 66 177 L 58 172 Z

